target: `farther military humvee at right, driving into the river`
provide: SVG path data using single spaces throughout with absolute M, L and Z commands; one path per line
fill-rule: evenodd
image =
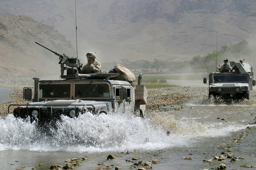
M 224 99 L 250 99 L 250 91 L 256 82 L 253 68 L 247 62 L 230 62 L 233 71 L 212 72 L 209 74 L 209 97 L 220 96 Z M 204 77 L 204 84 L 207 78 Z

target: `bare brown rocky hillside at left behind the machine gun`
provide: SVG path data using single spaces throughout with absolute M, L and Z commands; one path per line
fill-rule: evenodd
M 27 16 L 0 14 L 0 77 L 60 74 L 58 56 L 35 41 L 61 54 L 76 54 L 71 43 L 53 26 Z

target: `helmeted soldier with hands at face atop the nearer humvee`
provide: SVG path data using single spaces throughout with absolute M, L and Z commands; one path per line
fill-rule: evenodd
M 82 69 L 78 69 L 79 74 L 101 73 L 101 63 L 96 61 L 96 52 L 88 52 L 86 54 L 87 63 Z

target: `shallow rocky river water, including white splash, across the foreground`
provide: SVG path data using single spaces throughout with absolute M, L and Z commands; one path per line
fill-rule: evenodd
M 38 169 L 40 163 L 44 164 L 40 170 L 48 170 L 50 164 L 64 165 L 66 159 L 84 156 L 87 160 L 76 170 L 106 165 L 129 170 L 136 161 L 125 160 L 133 157 L 158 159 L 160 163 L 152 165 L 155 170 L 204 170 L 218 166 L 221 161 L 203 161 L 221 152 L 244 158 L 224 160 L 227 169 L 245 169 L 240 166 L 256 165 L 256 124 L 250 124 L 256 117 L 255 96 L 253 91 L 250 101 L 228 104 L 202 97 L 180 111 L 149 113 L 146 119 L 91 114 L 63 117 L 47 133 L 35 123 L 8 115 L 0 118 L 0 170 Z M 106 161 L 109 154 L 116 158 Z

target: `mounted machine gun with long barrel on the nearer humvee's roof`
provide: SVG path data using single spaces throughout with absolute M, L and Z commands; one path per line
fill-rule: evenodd
M 82 64 L 80 63 L 78 58 L 74 58 L 74 57 L 68 57 L 65 54 L 59 54 L 56 51 L 52 51 L 51 49 L 45 47 L 44 45 L 39 44 L 38 42 L 35 42 L 36 44 L 44 47 L 45 49 L 51 51 L 52 53 L 54 53 L 55 55 L 57 55 L 59 57 L 59 64 L 61 65 L 61 78 L 62 79 L 74 79 L 75 74 L 77 73 L 77 69 L 75 68 L 81 68 Z M 64 64 L 68 67 L 64 67 Z M 64 75 L 64 70 L 67 70 L 67 75 Z

